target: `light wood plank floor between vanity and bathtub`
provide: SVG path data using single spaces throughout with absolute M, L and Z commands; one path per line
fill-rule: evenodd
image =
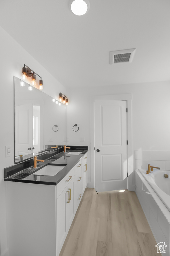
M 156 256 L 135 192 L 86 188 L 59 256 Z

